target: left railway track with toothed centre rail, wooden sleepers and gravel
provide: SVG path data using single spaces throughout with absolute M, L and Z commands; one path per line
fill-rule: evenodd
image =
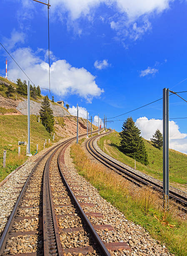
M 47 151 L 23 187 L 15 188 L 19 196 L 0 238 L 0 255 L 109 256 L 110 251 L 130 250 L 127 243 L 103 243 L 96 230 L 113 230 L 112 226 L 90 222 L 90 216 L 103 216 L 85 212 L 85 206 L 94 205 L 87 202 L 84 187 L 76 185 L 65 164 L 65 150 L 74 140 Z M 71 239 L 72 233 L 78 238 Z

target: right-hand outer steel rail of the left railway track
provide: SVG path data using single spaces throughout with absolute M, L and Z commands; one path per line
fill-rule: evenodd
M 69 144 L 69 143 L 68 143 Z M 68 146 L 68 144 L 66 146 Z M 60 167 L 60 155 L 62 154 L 64 148 L 60 151 L 60 154 L 58 155 L 58 168 L 60 170 L 60 173 L 62 175 L 63 181 L 65 182 L 65 185 L 70 193 L 70 196 L 72 197 L 72 200 L 75 202 L 76 207 L 78 208 L 80 215 L 82 216 L 82 220 L 85 223 L 87 229 L 89 230 L 89 233 L 92 234 L 92 238 L 94 238 L 96 244 L 97 244 L 97 249 L 100 251 L 101 255 L 105 256 L 111 256 L 109 251 L 107 250 L 105 244 L 102 242 L 100 236 L 97 234 L 97 231 L 95 228 L 92 226 L 92 223 L 90 220 L 87 218 L 87 215 L 85 214 L 84 210 L 80 206 L 80 203 L 77 201 L 77 198 L 75 197 L 74 193 L 72 192 L 72 189 L 70 188 L 69 184 L 67 183 L 67 180 L 65 179 L 63 172 Z

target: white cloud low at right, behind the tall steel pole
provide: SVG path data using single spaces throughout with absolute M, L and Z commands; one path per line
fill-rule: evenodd
M 147 140 L 152 138 L 157 129 L 162 132 L 162 120 L 146 117 L 138 118 L 136 123 L 141 131 L 141 136 Z M 187 134 L 179 131 L 179 126 L 174 121 L 169 121 L 170 148 L 187 154 Z

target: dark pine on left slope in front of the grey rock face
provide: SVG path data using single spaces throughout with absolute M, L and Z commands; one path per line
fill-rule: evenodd
M 40 116 L 42 119 L 42 124 L 45 126 L 45 129 L 51 133 L 54 127 L 54 116 L 53 111 L 50 108 L 50 102 L 48 96 L 44 97 L 44 100 L 41 103 Z

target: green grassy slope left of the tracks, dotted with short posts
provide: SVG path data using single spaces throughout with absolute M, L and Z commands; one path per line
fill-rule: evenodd
M 51 139 L 50 134 L 45 130 L 45 127 L 38 123 L 36 117 L 30 117 L 30 151 L 32 154 L 36 153 L 36 144 L 38 149 L 43 149 L 45 139 Z M 55 141 L 58 137 L 55 136 Z M 3 116 L 0 115 L 0 181 L 4 179 L 10 172 L 17 166 L 22 164 L 26 159 L 26 146 L 21 145 L 21 155 L 18 158 L 18 141 L 27 141 L 27 116 L 26 115 L 13 115 Z M 8 146 L 11 144 L 12 146 Z M 3 151 L 7 151 L 6 168 L 2 169 Z

